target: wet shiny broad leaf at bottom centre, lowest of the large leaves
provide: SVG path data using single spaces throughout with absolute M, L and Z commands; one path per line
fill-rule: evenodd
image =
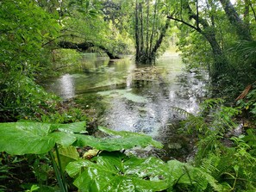
M 104 152 L 91 161 L 80 159 L 68 164 L 66 171 L 78 176 L 74 184 L 84 192 L 160 191 L 169 185 L 168 166 L 163 161 L 127 158 L 120 152 Z

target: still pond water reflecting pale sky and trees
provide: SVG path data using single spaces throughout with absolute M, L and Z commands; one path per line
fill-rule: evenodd
M 175 53 L 165 53 L 154 66 L 136 66 L 131 57 L 109 61 L 84 54 L 76 73 L 49 79 L 45 87 L 94 109 L 101 126 L 147 133 L 164 144 L 162 158 L 184 160 L 192 141 L 177 132 L 178 115 L 172 108 L 196 113 L 207 95 L 207 75 L 183 68 Z

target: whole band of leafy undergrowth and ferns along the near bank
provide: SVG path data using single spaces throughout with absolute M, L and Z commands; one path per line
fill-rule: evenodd
M 197 115 L 173 108 L 186 118 L 182 131 L 198 138 L 197 152 L 190 163 L 128 155 L 123 149 L 162 145 L 146 135 L 105 127 L 98 127 L 104 138 L 91 136 L 85 128 L 88 118 L 76 108 L 42 115 L 42 123 L 1 123 L 0 189 L 254 191 L 254 98 L 252 90 L 235 108 L 226 107 L 222 99 L 210 99 L 201 104 Z M 245 110 L 247 120 L 243 119 Z

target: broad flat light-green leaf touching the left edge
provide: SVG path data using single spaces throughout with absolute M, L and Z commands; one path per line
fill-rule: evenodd
M 1 123 L 0 152 L 14 155 L 41 154 L 49 152 L 56 143 L 70 146 L 76 140 L 72 133 L 72 130 L 78 131 L 76 125 L 80 130 L 81 122 L 73 123 L 71 127 L 29 121 Z

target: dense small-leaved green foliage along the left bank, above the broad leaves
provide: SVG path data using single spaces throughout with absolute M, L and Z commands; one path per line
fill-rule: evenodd
M 55 14 L 30 1 L 1 1 L 0 121 L 38 115 L 53 104 L 53 96 L 34 83 L 50 70 L 51 48 L 59 34 Z

